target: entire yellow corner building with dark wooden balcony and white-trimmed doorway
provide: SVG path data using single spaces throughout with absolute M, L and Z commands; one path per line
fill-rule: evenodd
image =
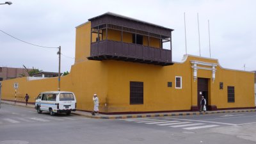
M 89 19 L 76 28 L 76 60 L 61 77 L 61 90 L 74 92 L 83 111 L 92 111 L 97 93 L 100 111 L 108 114 L 198 111 L 202 95 L 208 110 L 255 108 L 253 72 L 199 56 L 173 62 L 172 31 L 109 12 Z M 2 99 L 15 99 L 14 83 L 17 101 L 58 88 L 56 77 L 21 77 L 2 82 Z

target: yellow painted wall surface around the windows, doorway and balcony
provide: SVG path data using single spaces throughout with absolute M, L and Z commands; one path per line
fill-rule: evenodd
M 114 35 L 115 31 L 110 32 Z M 115 36 L 118 36 L 116 33 Z M 115 36 L 109 36 L 117 40 Z M 131 35 L 124 33 L 127 42 Z M 153 39 L 150 39 L 153 42 Z M 157 39 L 155 40 L 157 42 Z M 145 42 L 143 42 L 145 43 Z M 157 42 L 159 44 L 159 42 Z M 193 80 L 191 60 L 217 63 L 218 60 L 188 56 L 182 63 L 170 66 L 148 65 L 127 61 L 93 61 L 90 56 L 90 22 L 77 27 L 76 62 L 70 74 L 61 77 L 61 90 L 74 92 L 77 97 L 77 109 L 91 111 L 92 96 L 99 95 L 100 111 L 175 111 L 189 110 L 197 106 L 197 80 Z M 198 70 L 197 77 L 209 79 L 209 105 L 217 108 L 254 107 L 254 74 L 238 70 L 216 67 L 216 79 L 212 83 L 211 70 Z M 175 88 L 175 76 L 182 77 L 182 89 Z M 2 99 L 14 100 L 13 83 L 19 83 L 17 100 L 24 101 L 28 93 L 34 98 L 40 92 L 57 90 L 57 77 L 28 81 L 26 77 L 2 82 Z M 144 86 L 144 104 L 130 104 L 129 83 L 141 81 Z M 172 88 L 167 86 L 172 82 Z M 220 90 L 223 82 L 223 90 Z M 235 102 L 227 102 L 227 86 L 235 86 Z M 29 99 L 29 102 L 35 102 Z M 105 105 L 106 104 L 106 105 Z

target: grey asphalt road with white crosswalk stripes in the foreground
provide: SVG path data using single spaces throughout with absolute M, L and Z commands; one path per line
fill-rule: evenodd
M 0 144 L 256 143 L 256 113 L 102 120 L 2 104 Z

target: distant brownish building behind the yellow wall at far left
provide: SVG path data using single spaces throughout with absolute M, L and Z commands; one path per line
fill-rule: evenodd
M 28 72 L 25 68 L 0 67 L 0 81 L 23 76 L 28 76 Z

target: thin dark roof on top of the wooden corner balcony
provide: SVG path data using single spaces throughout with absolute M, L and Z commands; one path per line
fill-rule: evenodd
M 109 15 L 109 16 L 112 16 L 112 17 L 118 17 L 118 18 L 121 18 L 121 19 L 132 20 L 132 21 L 134 21 L 134 22 L 140 22 L 140 23 L 142 23 L 142 24 L 147 24 L 147 25 L 150 25 L 150 26 L 155 26 L 155 27 L 157 27 L 157 28 L 166 29 L 166 30 L 168 30 L 168 31 L 174 31 L 174 29 L 165 28 L 165 27 L 163 27 L 163 26 L 159 26 L 159 25 L 156 25 L 156 24 L 152 24 L 152 23 L 150 23 L 150 22 L 145 22 L 145 21 L 143 21 L 143 20 L 133 19 L 133 18 L 131 18 L 131 17 L 126 17 L 126 16 L 124 16 L 124 15 L 118 15 L 118 14 L 112 13 L 112 12 L 107 12 L 107 13 L 104 13 L 104 14 L 99 15 L 99 16 L 97 16 L 97 17 L 93 17 L 93 18 L 91 18 L 91 19 L 88 19 L 88 20 L 89 20 L 89 21 L 92 21 L 92 20 L 100 19 L 101 17 L 108 16 L 108 15 Z

